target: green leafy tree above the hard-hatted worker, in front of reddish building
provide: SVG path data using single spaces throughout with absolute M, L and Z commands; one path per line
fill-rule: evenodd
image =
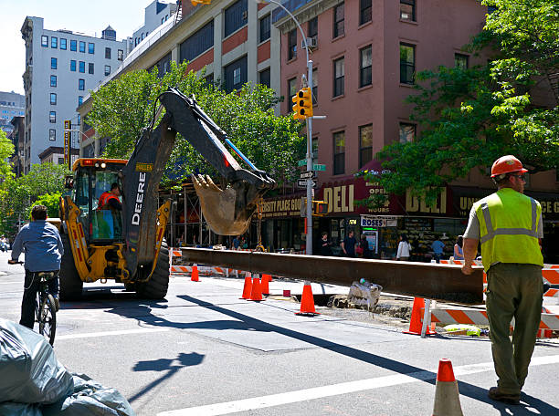
M 417 74 L 412 120 L 420 137 L 377 153 L 385 172 L 362 172 L 387 192 L 410 190 L 431 200 L 437 187 L 483 169 L 503 154 L 531 173 L 559 165 L 559 0 L 484 0 L 496 6 L 466 48 L 490 53 L 487 65 Z M 536 99 L 536 94 L 539 96 Z M 542 99 L 544 98 L 544 99 Z M 378 206 L 383 195 L 366 203 Z

